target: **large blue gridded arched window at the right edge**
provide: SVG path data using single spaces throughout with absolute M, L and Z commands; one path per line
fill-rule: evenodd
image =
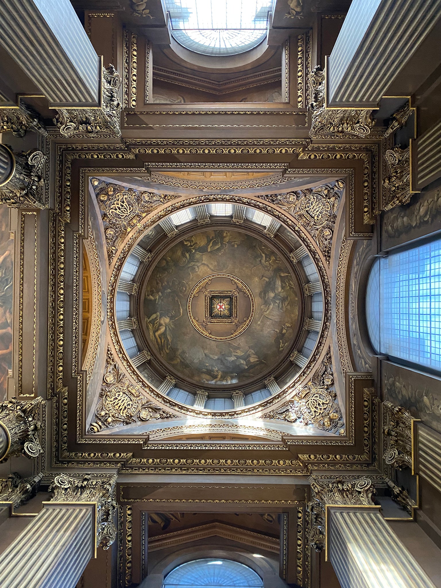
M 441 373 L 441 239 L 376 260 L 366 322 L 377 353 Z

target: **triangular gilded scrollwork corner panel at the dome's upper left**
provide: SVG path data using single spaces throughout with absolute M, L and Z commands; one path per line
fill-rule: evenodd
M 109 263 L 128 233 L 155 208 L 173 199 L 166 194 L 143 192 L 98 178 L 91 178 L 91 184 L 101 212 Z

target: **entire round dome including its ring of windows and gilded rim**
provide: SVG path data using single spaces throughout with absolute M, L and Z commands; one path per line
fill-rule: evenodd
M 206 198 L 139 226 L 113 269 L 109 317 L 140 387 L 180 412 L 232 418 L 270 406 L 312 369 L 329 282 L 283 213 Z

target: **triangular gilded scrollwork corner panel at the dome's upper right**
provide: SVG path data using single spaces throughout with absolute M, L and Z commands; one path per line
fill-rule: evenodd
M 308 230 L 329 263 L 337 211 L 344 188 L 345 182 L 337 180 L 317 188 L 273 194 L 266 198 L 289 212 Z

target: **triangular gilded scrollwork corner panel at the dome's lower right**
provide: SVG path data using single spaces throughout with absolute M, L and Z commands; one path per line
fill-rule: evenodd
M 298 390 L 289 402 L 265 413 L 262 418 L 298 422 L 329 433 L 345 434 L 345 423 L 335 391 L 330 348 L 308 384 Z

